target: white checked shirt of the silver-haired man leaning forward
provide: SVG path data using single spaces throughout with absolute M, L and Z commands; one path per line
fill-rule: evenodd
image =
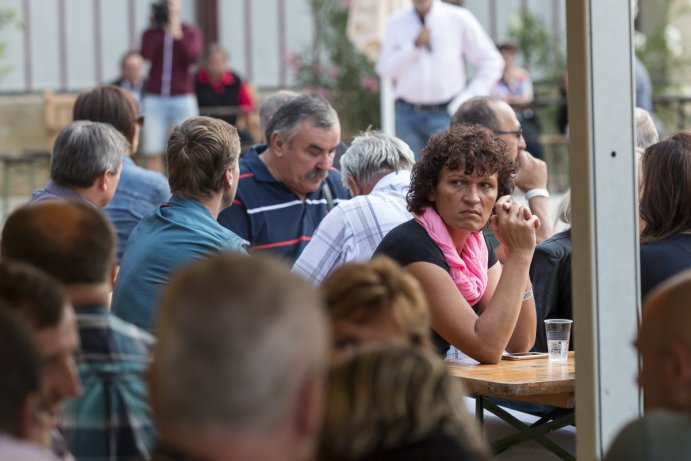
M 405 195 L 410 171 L 381 178 L 367 195 L 341 202 L 319 223 L 293 272 L 319 285 L 336 267 L 368 261 L 384 236 L 412 218 Z

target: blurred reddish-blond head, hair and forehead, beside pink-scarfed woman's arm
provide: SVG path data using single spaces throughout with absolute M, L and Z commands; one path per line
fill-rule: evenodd
M 415 278 L 386 256 L 348 263 L 321 286 L 331 320 L 332 355 L 391 342 L 432 351 L 427 300 Z

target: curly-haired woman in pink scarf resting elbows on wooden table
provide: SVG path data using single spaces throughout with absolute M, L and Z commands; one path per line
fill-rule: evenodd
M 506 144 L 488 129 L 455 126 L 434 136 L 413 167 L 414 219 L 377 248 L 420 282 L 441 353 L 453 345 L 497 363 L 504 350 L 525 352 L 535 342 L 528 270 L 540 223 L 511 201 L 514 176 Z M 507 249 L 503 267 L 482 234 L 490 221 Z

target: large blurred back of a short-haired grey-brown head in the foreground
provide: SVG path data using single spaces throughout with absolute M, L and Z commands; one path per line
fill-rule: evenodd
M 156 334 L 157 427 L 198 442 L 290 424 L 308 378 L 323 377 L 328 362 L 317 292 L 261 256 L 220 253 L 178 272 L 163 293 Z

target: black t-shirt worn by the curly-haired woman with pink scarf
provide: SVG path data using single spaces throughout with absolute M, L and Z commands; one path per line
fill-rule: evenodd
M 487 268 L 489 269 L 497 263 L 497 256 L 494 254 L 494 249 L 487 238 L 485 238 L 485 244 L 487 245 Z M 434 243 L 434 240 L 432 240 L 425 228 L 414 219 L 391 229 L 381 241 L 374 254 L 384 254 L 404 267 L 416 262 L 428 262 L 450 273 L 449 264 L 446 262 L 444 253 Z M 473 306 L 473 309 L 476 309 L 476 307 Z M 432 339 L 442 356 L 446 355 L 446 352 L 449 350 L 448 341 L 439 336 L 434 330 L 432 330 Z

